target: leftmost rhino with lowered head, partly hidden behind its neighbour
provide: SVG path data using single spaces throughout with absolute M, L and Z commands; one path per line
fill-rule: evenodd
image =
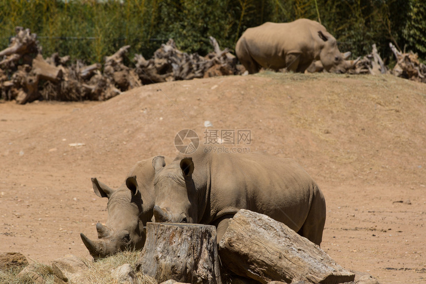
M 137 162 L 125 182 L 116 190 L 92 178 L 96 195 L 108 198 L 106 225 L 96 224 L 98 239 L 91 240 L 83 233 L 80 234 L 95 259 L 120 250 L 143 248 L 146 238 L 144 227 L 153 217 L 155 202 L 152 160 Z M 165 162 L 170 161 L 170 158 L 165 157 Z

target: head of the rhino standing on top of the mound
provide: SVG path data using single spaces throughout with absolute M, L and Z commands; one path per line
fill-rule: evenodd
M 352 64 L 356 63 L 346 60 L 351 56 L 351 52 L 340 52 L 337 47 L 337 41 L 331 34 L 319 31 L 318 37 L 321 43 L 319 59 L 326 71 L 331 73 L 345 73 L 347 69 L 352 67 Z

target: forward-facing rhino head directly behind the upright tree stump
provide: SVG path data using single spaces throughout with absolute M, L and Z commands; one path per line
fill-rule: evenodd
M 197 194 L 192 173 L 194 163 L 191 158 L 174 160 L 164 166 L 163 157 L 153 159 L 156 171 L 154 188 L 155 222 L 197 223 Z

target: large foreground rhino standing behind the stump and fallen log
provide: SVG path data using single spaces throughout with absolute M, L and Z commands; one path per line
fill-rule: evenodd
M 162 156 L 157 156 L 153 166 L 156 222 L 214 225 L 219 241 L 229 219 L 239 209 L 248 209 L 321 243 L 324 196 L 292 159 L 264 153 L 216 154 L 197 150 L 167 164 Z

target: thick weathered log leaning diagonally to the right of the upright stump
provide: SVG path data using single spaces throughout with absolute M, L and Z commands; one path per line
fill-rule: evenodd
M 261 283 L 307 281 L 344 283 L 354 280 L 320 247 L 266 215 L 240 210 L 219 242 L 222 265 Z

